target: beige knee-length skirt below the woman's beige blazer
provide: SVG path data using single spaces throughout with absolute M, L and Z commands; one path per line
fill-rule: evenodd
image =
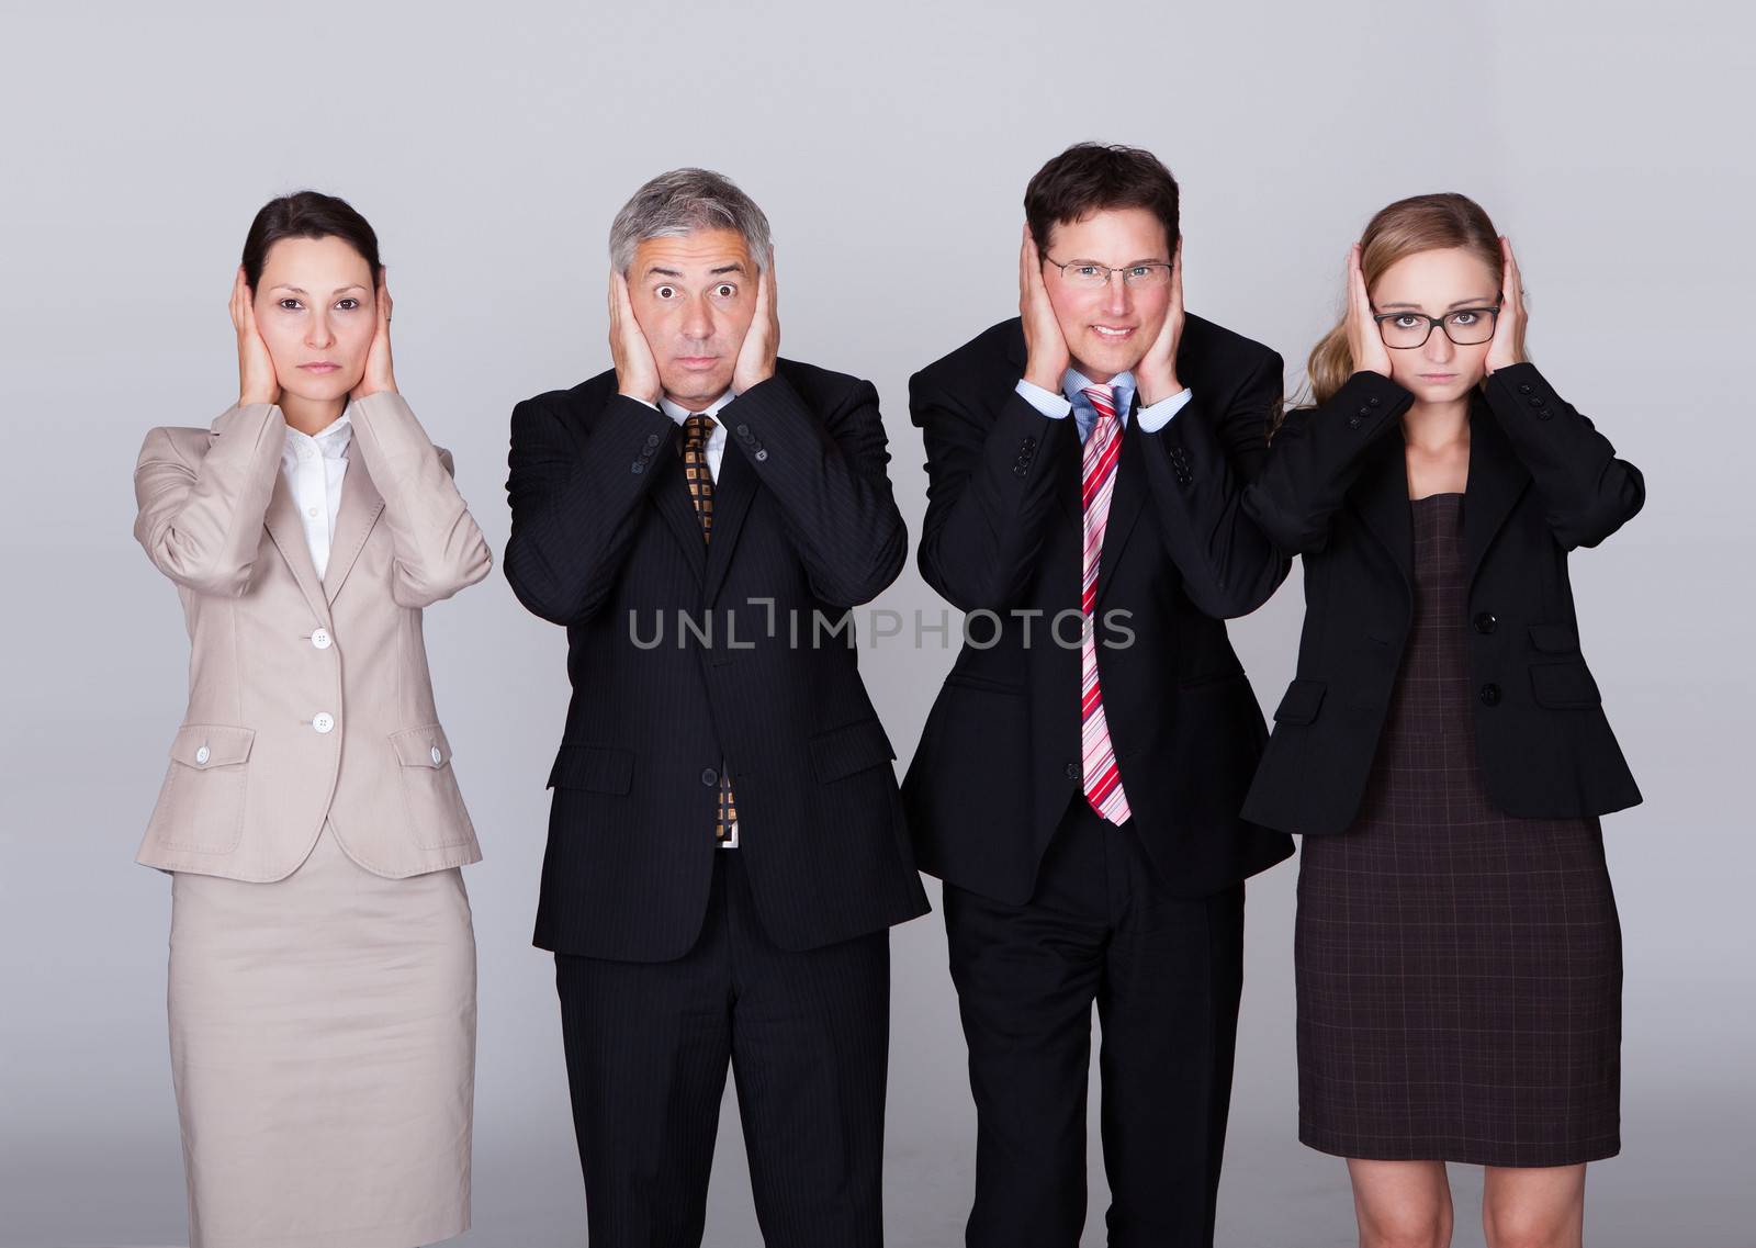
M 190 1248 L 469 1229 L 476 934 L 457 867 L 385 879 L 325 825 L 276 883 L 177 872 L 169 1004 Z

